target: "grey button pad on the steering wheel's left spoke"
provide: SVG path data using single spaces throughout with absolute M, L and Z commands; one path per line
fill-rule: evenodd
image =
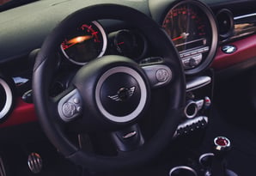
M 66 90 L 55 98 L 58 116 L 64 122 L 70 122 L 82 114 L 82 98 L 76 88 Z

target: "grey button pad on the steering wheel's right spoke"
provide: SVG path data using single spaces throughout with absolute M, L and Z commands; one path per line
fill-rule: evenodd
M 173 72 L 164 62 L 155 64 L 143 64 L 142 69 L 149 79 L 151 88 L 166 86 L 173 79 Z

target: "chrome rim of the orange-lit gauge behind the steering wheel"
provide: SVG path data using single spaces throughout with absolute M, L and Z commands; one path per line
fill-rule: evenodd
M 95 27 L 97 27 L 98 30 L 101 32 L 102 39 L 103 39 L 102 40 L 102 49 L 101 49 L 100 54 L 96 57 L 96 58 L 101 58 L 105 54 L 105 52 L 107 50 L 107 33 L 105 32 L 104 28 L 101 26 L 101 24 L 98 21 L 91 21 L 91 22 L 88 22 L 88 23 L 93 23 L 95 25 Z M 70 58 L 68 56 L 68 54 L 64 51 L 64 48 L 63 48 L 62 45 L 60 45 L 60 50 L 64 54 L 64 58 L 67 58 L 73 64 L 84 65 L 84 64 L 88 63 L 88 62 L 77 62 L 74 59 Z

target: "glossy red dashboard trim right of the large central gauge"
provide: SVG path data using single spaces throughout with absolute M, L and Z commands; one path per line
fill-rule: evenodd
M 226 54 L 219 47 L 211 68 L 221 70 L 231 65 L 239 64 L 249 58 L 256 57 L 256 34 L 230 44 L 236 46 L 237 51 L 232 54 Z

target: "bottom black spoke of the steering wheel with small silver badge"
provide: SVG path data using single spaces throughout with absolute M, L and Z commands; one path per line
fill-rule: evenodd
M 144 143 L 144 137 L 137 124 L 133 124 L 124 130 L 111 133 L 113 142 L 120 152 L 132 151 L 139 148 Z

